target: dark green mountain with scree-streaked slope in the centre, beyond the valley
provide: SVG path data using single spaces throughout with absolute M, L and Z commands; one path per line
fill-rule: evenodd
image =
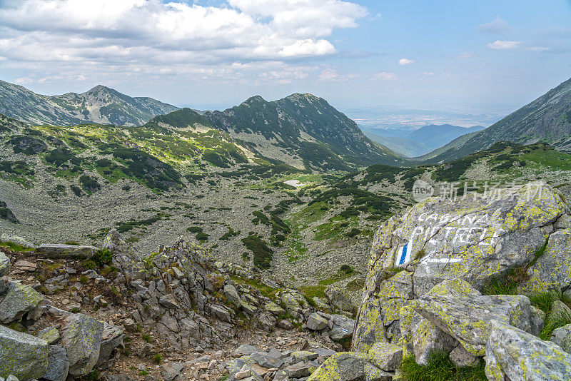
M 254 96 L 239 106 L 208 111 L 204 116 L 261 156 L 298 168 L 348 171 L 402 161 L 370 141 L 345 114 L 311 94 L 292 94 L 271 102 Z

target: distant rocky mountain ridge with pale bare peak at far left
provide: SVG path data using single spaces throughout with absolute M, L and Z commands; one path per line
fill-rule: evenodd
M 94 122 L 138 126 L 176 109 L 153 98 L 132 98 L 101 85 L 81 94 L 44 96 L 0 81 L 0 113 L 30 124 L 73 126 Z

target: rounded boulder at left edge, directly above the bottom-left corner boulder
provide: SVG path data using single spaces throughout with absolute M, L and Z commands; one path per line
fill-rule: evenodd
M 0 321 L 8 324 L 19 320 L 42 300 L 44 297 L 29 285 L 12 283 L 8 293 L 0 302 Z

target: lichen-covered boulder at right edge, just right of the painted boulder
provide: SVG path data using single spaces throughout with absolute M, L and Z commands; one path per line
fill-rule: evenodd
M 571 229 L 550 235 L 544 253 L 529 269 L 530 279 L 520 285 L 520 293 L 534 295 L 555 290 L 562 293 L 571 286 Z

